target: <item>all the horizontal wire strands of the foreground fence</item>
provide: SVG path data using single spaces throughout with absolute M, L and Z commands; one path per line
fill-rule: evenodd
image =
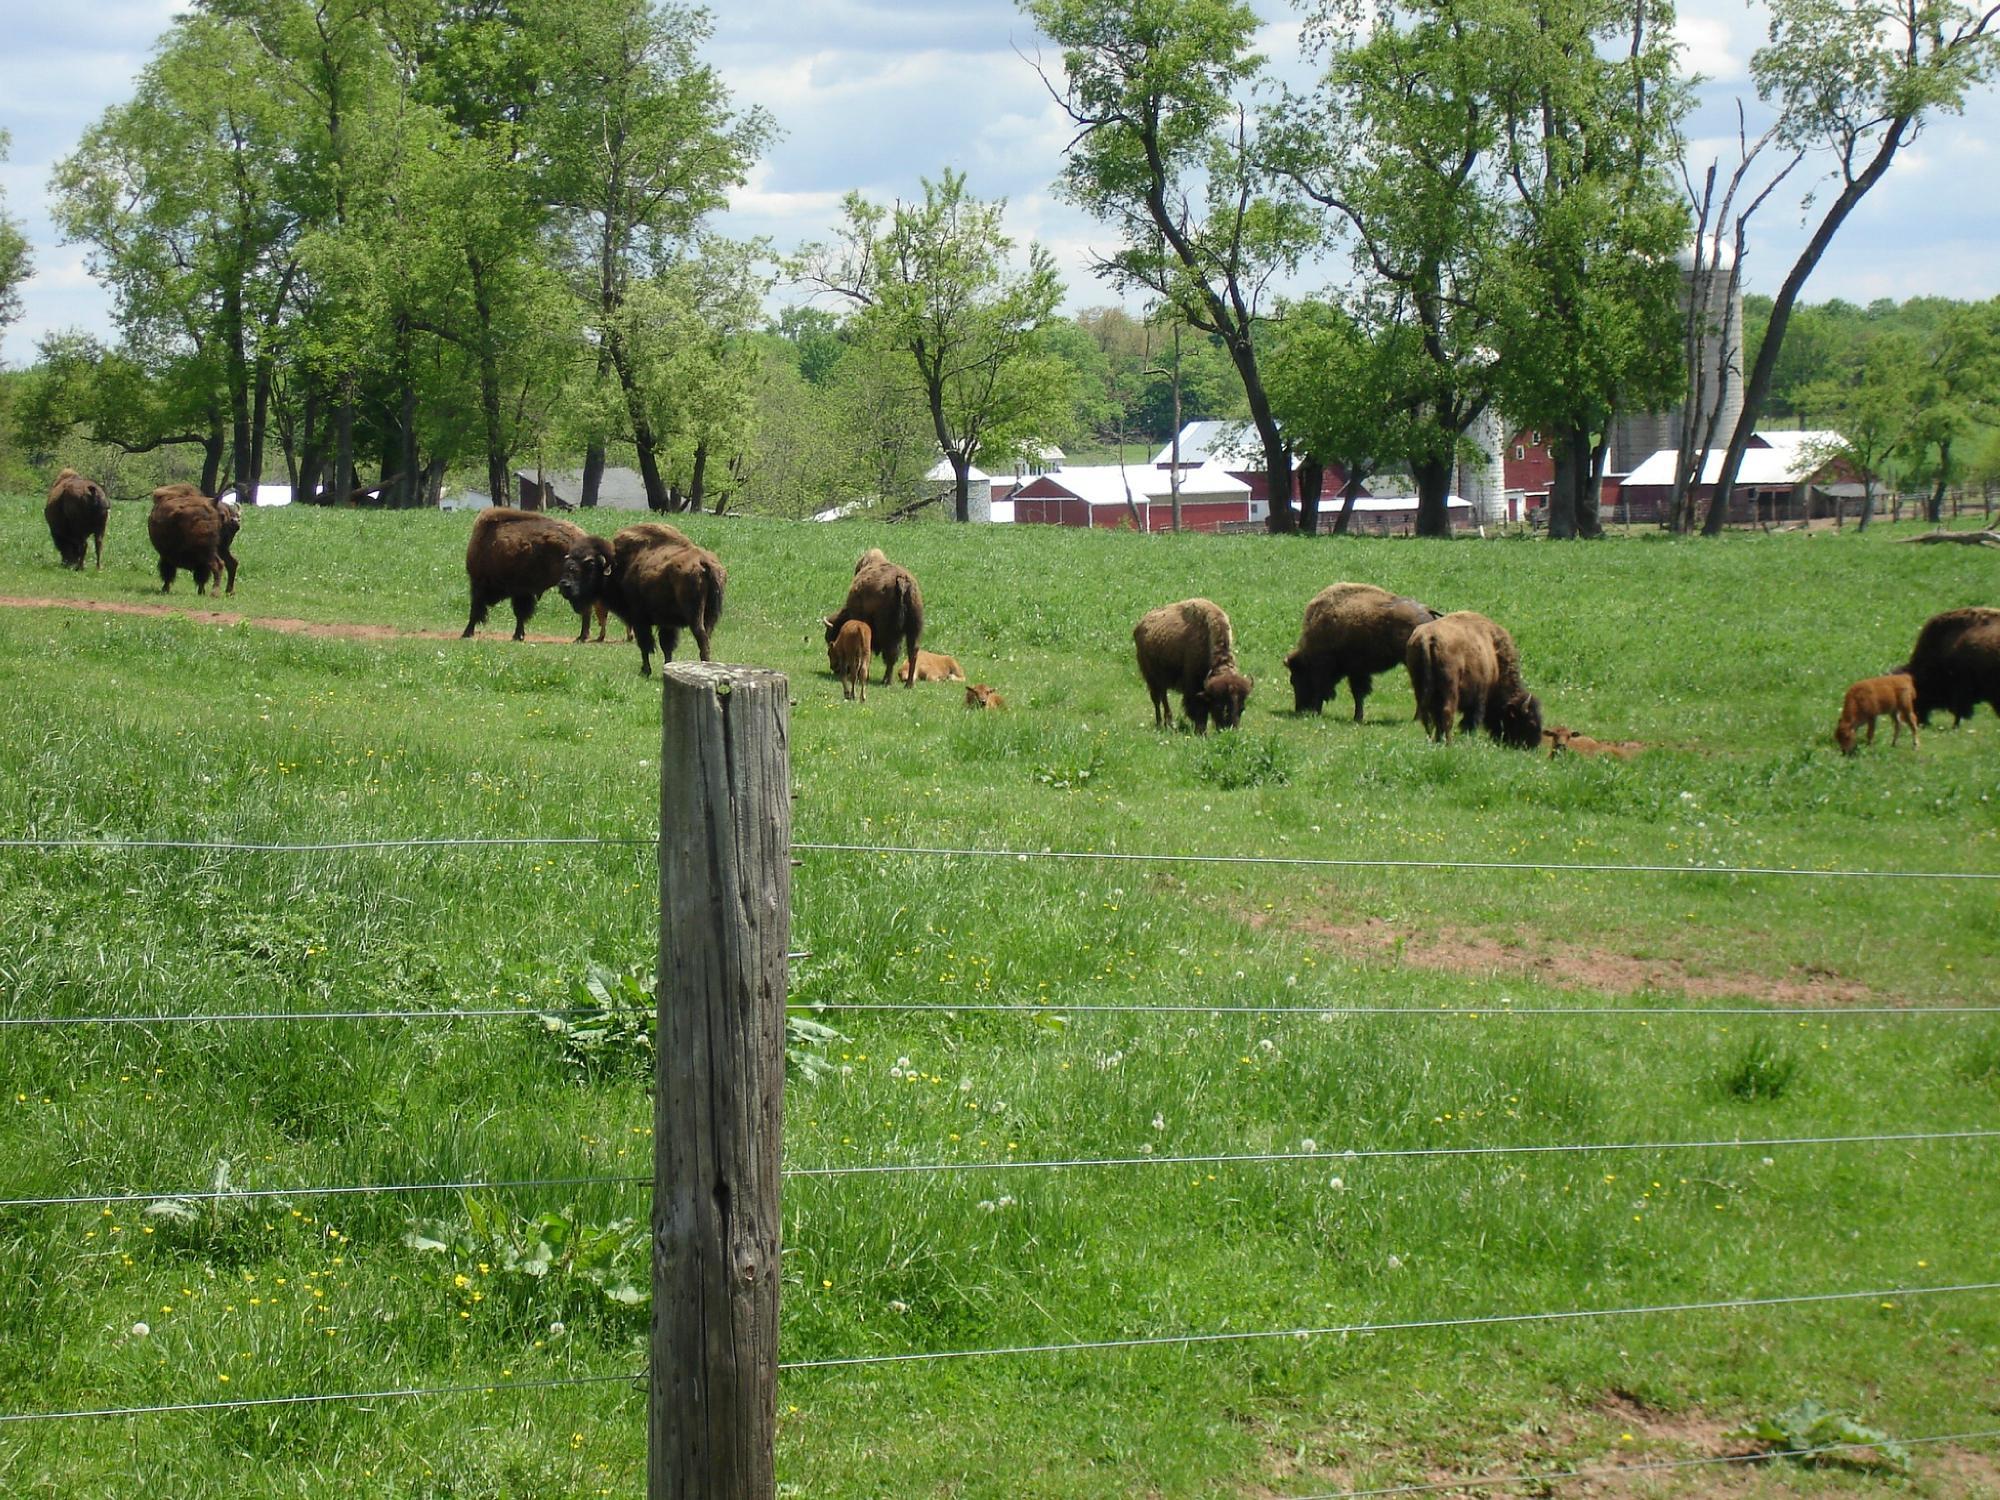
M 472 836 L 472 838 L 382 838 L 382 840 L 328 840 L 328 842 L 232 842 L 232 840 L 178 840 L 178 838 L 6 838 L 0 850 L 18 852 L 200 852 L 200 854 L 376 854 L 400 850 L 492 850 L 492 848 L 640 848 L 656 846 L 654 834 L 630 836 Z M 1786 866 L 1732 866 L 1732 864 L 1584 864 L 1584 862 L 1538 862 L 1538 860 L 1416 860 L 1416 858 L 1320 858 L 1320 856 L 1268 856 L 1268 854 L 1200 854 L 1200 852 L 1118 852 L 1118 850 L 1016 850 L 1016 848 L 952 848 L 924 844 L 840 844 L 840 842 L 794 842 L 796 854 L 822 856 L 862 856 L 862 858 L 938 858 L 938 860 L 1002 860 L 1028 864 L 1048 862 L 1104 862 L 1104 864 L 1196 864 L 1196 866 L 1282 866 L 1318 870 L 1384 870 L 1384 872 L 1500 872 L 1500 874 L 1558 874 L 1558 876 L 1726 876 L 1726 878 L 1784 878 L 1784 880 L 1890 880 L 1890 882 L 1994 882 L 2000 872 L 1980 870 L 1866 870 L 1866 868 L 1786 868 Z M 794 860 L 796 862 L 796 860 Z M 794 960 L 810 958 L 794 952 Z M 1772 1016 L 1814 1016 L 1874 1018 L 1874 1020 L 1916 1020 L 1942 1016 L 1992 1016 L 2000 1006 L 1952 1004 L 1952 1006 L 1514 1006 L 1500 1002 L 1486 1008 L 1470 1006 L 1372 1006 L 1372 1004 L 1200 1004 L 1200 1002 L 900 1002 L 900 1000 L 838 1000 L 838 1002 L 794 1002 L 790 1006 L 810 1014 L 838 1012 L 880 1012 L 880 1014 L 1036 1014 L 1036 1016 L 1208 1016 L 1228 1020 L 1234 1016 L 1300 1016 L 1300 1018 L 1430 1018 L 1430 1020 L 1496 1020 L 1496 1018 L 1772 1018 Z M 0 1028 L 108 1028 L 108 1026 L 182 1026 L 182 1024 L 308 1024 L 308 1022 L 460 1022 L 496 1018 L 536 1018 L 536 1016 L 580 1016 L 584 1010 L 540 1010 L 524 1006 L 454 1006 L 454 1008 L 346 1008 L 346 1010 L 238 1010 L 238 1012 L 160 1012 L 160 1014 L 80 1014 L 80 1016 L 0 1016 Z M 1916 1144 L 1986 1144 L 2000 1138 L 1994 1128 L 1934 1128 L 1934 1130 L 1894 1130 L 1894 1132 L 1850 1132 L 1820 1136 L 1754 1136 L 1754 1138 L 1688 1138 L 1688 1140 L 1612 1140 L 1612 1142 L 1490 1142 L 1454 1146 L 1370 1146 L 1350 1148 L 1302 1148 L 1276 1152 L 1204 1152 L 1204 1154 L 1164 1154 L 1140 1152 L 1124 1156 L 1040 1156 L 1028 1160 L 930 1160 L 930 1162 L 850 1162 L 788 1166 L 782 1176 L 788 1180 L 840 1180 L 840 1178 L 894 1178 L 894 1176 L 972 1176 L 972 1174 L 1026 1174 L 1026 1172 L 1090 1172 L 1090 1170 L 1138 1170 L 1148 1166 L 1164 1168 L 1214 1168 L 1214 1166 L 1338 1166 L 1342 1162 L 1394 1162 L 1394 1160 L 1468 1160 L 1468 1158 L 1550 1158 L 1586 1154 L 1664 1154 L 1664 1152 L 1740 1152 L 1740 1150 L 1812 1150 L 1812 1148 L 1862 1148 L 1862 1146 L 1916 1146 Z M 264 1200 L 306 1200 L 306 1198 L 380 1198 L 418 1196 L 444 1192 L 550 1192 L 576 1188 L 634 1188 L 652 1184 L 652 1174 L 578 1174 L 578 1176 L 524 1176 L 524 1178 L 456 1178 L 436 1182 L 384 1182 L 384 1184 L 322 1184 L 286 1188 L 206 1188 L 206 1190 L 156 1190 L 156 1192 L 78 1192 L 48 1196 L 0 1198 L 0 1210 L 26 1212 L 44 1208 L 144 1208 L 160 1202 L 264 1202 Z M 1900 1304 L 1906 1300 L 1986 1296 L 2000 1290 L 2000 1282 L 1954 1282 L 1940 1286 L 1890 1286 L 1870 1290 L 1816 1290 L 1786 1292 L 1770 1296 L 1728 1296 L 1714 1300 L 1654 1302 L 1602 1308 L 1564 1308 L 1538 1312 L 1482 1312 L 1446 1318 L 1412 1318 L 1386 1322 L 1334 1322 L 1294 1328 L 1254 1328 L 1254 1330 L 1188 1330 L 1164 1334 L 1130 1334 L 1092 1340 L 1040 1342 L 1040 1344 L 998 1344 L 986 1348 L 946 1348 L 946 1350 L 876 1350 L 838 1354 L 824 1358 L 780 1360 L 780 1372 L 836 1372 L 864 1366 L 926 1366 L 962 1360 L 1004 1360 L 1036 1356 L 1084 1356 L 1138 1350 L 1194 1350 L 1208 1346 L 1232 1346 L 1250 1342 L 1312 1342 L 1326 1338 L 1376 1338 L 1398 1334 L 1424 1334 L 1440 1330 L 1480 1330 L 1510 1326 L 1564 1326 L 1582 1322 L 1610 1322 L 1628 1318 L 1660 1318 L 1720 1312 L 1754 1312 L 1772 1308 L 1838 1306 L 1856 1302 Z M 256 1408 L 302 1408 L 344 1402 L 390 1402 L 390 1400 L 442 1400 L 456 1396 L 496 1396 L 508 1392 L 540 1392 L 576 1386 L 642 1384 L 646 1372 L 616 1374 L 576 1374 L 548 1378 L 504 1378 L 494 1382 L 462 1382 L 438 1386 L 386 1386 L 360 1392 L 302 1392 L 290 1396 L 244 1396 L 204 1402 L 166 1402 L 138 1406 L 100 1406 L 84 1410 L 54 1412 L 0 1412 L 0 1424 L 24 1422 L 70 1422 L 84 1418 L 136 1418 L 162 1414 L 198 1414 Z M 1904 1446 L 1978 1442 L 2000 1438 L 2000 1430 L 1936 1434 L 1906 1438 Z M 1714 1464 L 1760 1462 L 1770 1456 L 1814 1456 L 1836 1450 L 1866 1448 L 1870 1444 L 1822 1444 L 1814 1448 L 1786 1450 L 1784 1454 L 1732 1454 L 1714 1458 L 1680 1458 L 1660 1462 L 1628 1462 L 1602 1470 L 1548 1470 L 1534 1474 L 1504 1474 L 1488 1478 L 1460 1478 L 1446 1482 L 1400 1484 L 1370 1490 L 1338 1490 L 1316 1496 L 1294 1496 L 1292 1500 L 1366 1500 L 1368 1496 L 1422 1494 L 1438 1490 L 1502 1488 L 1516 1484 L 1554 1486 L 1562 1482 L 1586 1480 L 1594 1476 L 1628 1476 L 1642 1472 L 1672 1472 L 1704 1468 Z

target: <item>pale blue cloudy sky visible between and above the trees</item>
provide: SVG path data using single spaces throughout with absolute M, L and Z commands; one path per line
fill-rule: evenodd
M 1266 18 L 1262 50 L 1302 82 L 1298 12 L 1284 0 L 1254 4 Z M 32 360 L 52 330 L 114 336 L 110 298 L 82 248 L 56 240 L 48 174 L 92 120 L 130 96 L 180 8 L 178 0 L 0 0 L 0 130 L 12 134 L 0 190 L 28 228 L 36 264 L 22 318 L 0 342 L 10 366 Z M 764 106 L 780 130 L 734 194 L 722 232 L 770 236 L 790 250 L 830 236 L 850 188 L 890 202 L 950 166 L 976 196 L 1006 198 L 1016 240 L 1054 252 L 1072 310 L 1120 300 L 1090 274 L 1092 252 L 1114 248 L 1110 236 L 1054 190 L 1068 130 L 1036 60 L 1060 74 L 1060 56 L 1010 0 L 716 0 L 712 12 L 708 60 L 736 104 Z M 1748 64 L 1762 32 L 1756 6 L 1684 0 L 1682 62 L 1706 80 L 1688 122 L 1694 160 L 1734 152 L 1736 100 L 1756 102 Z M 2000 94 L 1988 88 L 1964 116 L 1936 120 L 1902 152 L 1834 240 L 1806 300 L 2000 294 L 1996 168 Z M 1810 186 L 1804 174 L 1794 182 Z M 1774 292 L 1806 234 L 1800 192 L 1774 198 L 1752 222 L 1748 290 Z M 1308 272 L 1296 290 L 1340 270 Z

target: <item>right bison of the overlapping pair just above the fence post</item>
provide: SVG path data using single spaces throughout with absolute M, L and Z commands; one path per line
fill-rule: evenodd
M 604 604 L 632 626 L 640 676 L 652 676 L 654 630 L 660 632 L 660 654 L 668 662 L 674 660 L 682 630 L 692 630 L 702 660 L 712 660 L 708 642 L 722 618 L 728 572 L 714 552 L 672 526 L 626 526 L 610 542 L 584 536 L 562 560 L 556 586 L 574 608 Z

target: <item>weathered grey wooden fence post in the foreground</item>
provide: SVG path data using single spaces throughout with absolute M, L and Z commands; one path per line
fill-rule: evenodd
M 772 1500 L 792 756 L 778 672 L 668 666 L 650 1500 Z

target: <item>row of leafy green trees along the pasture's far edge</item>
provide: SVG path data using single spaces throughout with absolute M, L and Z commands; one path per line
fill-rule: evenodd
M 1832 396 L 1868 382 L 1798 374 L 1826 322 L 1800 292 L 1994 60 L 1992 16 L 1956 0 L 1774 0 L 1752 62 L 1770 124 L 1718 186 L 1686 156 L 1670 0 L 1314 0 L 1302 90 L 1242 0 L 1022 8 L 1060 56 L 1060 190 L 1114 230 L 1094 270 L 1138 314 L 1058 316 L 1048 254 L 952 170 L 888 206 L 850 194 L 788 256 L 718 236 L 774 122 L 700 60 L 698 8 L 196 0 L 56 168 L 120 338 L 46 340 L 14 428 L 186 446 L 210 490 L 282 468 L 302 496 L 386 504 L 478 468 L 504 498 L 526 456 L 580 454 L 586 504 L 616 456 L 658 510 L 800 514 L 920 492 L 942 456 L 964 518 L 974 462 L 1240 414 L 1272 530 L 1318 530 L 1338 468 L 1336 530 L 1394 470 L 1442 534 L 1468 430 L 1504 412 L 1552 434 L 1550 534 L 1592 536 L 1614 418 L 1688 404 L 1692 528 L 1692 476 L 1710 452 L 1734 474 L 1766 410 L 1818 384 L 1856 426 Z M 1704 278 L 1740 286 L 1752 216 L 1818 168 L 1806 250 L 1748 304 L 1746 368 L 1704 370 L 1728 306 Z M 780 282 L 796 306 L 770 318 Z M 1894 450 L 1940 496 L 1984 430 L 1982 318 L 1868 342 L 1922 392 Z

